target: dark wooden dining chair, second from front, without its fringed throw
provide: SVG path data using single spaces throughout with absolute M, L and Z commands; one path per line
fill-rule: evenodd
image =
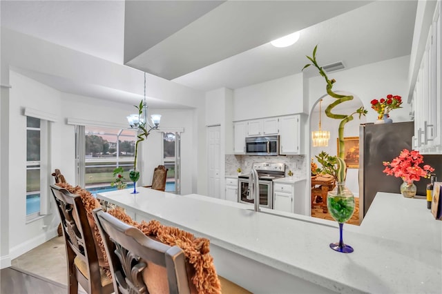
M 93 230 L 81 197 L 59 186 L 50 190 L 57 203 L 66 246 L 68 293 L 78 293 L 78 284 L 89 294 L 113 293 L 111 277 L 99 266 Z

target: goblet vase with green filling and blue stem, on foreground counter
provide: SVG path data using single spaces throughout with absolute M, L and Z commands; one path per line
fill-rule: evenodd
M 352 253 L 352 246 L 343 242 L 343 226 L 354 213 L 354 196 L 345 188 L 345 182 L 338 182 L 334 190 L 327 194 L 327 208 L 330 215 L 339 223 L 339 242 L 330 244 L 334 251 Z

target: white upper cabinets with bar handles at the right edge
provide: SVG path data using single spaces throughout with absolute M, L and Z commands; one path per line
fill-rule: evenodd
M 442 154 L 441 41 L 441 1 L 438 1 L 412 95 L 413 148 L 423 154 Z

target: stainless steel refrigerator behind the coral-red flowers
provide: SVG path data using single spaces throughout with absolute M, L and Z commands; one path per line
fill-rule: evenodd
M 359 127 L 359 217 L 363 219 L 376 193 L 400 193 L 402 179 L 383 173 L 383 161 L 392 161 L 401 150 L 412 150 L 414 121 L 394 124 L 361 124 Z M 424 164 L 430 164 L 437 179 L 442 181 L 442 155 L 423 155 Z M 430 179 L 414 182 L 416 197 L 425 198 Z M 427 204 L 423 201 L 422 207 Z

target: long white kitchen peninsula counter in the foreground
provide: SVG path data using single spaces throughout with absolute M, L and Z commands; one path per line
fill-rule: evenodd
M 137 222 L 157 219 L 210 239 L 218 273 L 253 293 L 441 293 L 442 222 L 423 199 L 378 193 L 361 226 L 345 224 L 354 253 L 344 254 L 329 248 L 338 241 L 336 222 L 139 190 L 97 197 Z

